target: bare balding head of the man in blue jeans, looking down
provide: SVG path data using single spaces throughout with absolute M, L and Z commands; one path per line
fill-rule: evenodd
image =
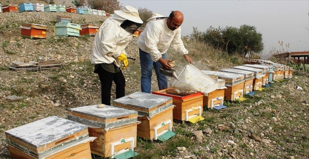
M 176 10 L 176 11 L 172 11 L 169 14 L 169 17 L 167 19 L 167 27 L 170 30 L 176 30 L 183 22 L 183 14 L 182 12 Z

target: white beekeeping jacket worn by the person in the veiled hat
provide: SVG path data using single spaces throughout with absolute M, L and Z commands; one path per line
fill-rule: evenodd
M 120 27 L 125 20 L 127 19 L 114 14 L 104 21 L 95 36 L 91 54 L 92 64 L 114 63 L 117 67 L 121 66 L 118 56 L 121 53 L 127 55 L 125 48 L 133 37 L 133 34 Z

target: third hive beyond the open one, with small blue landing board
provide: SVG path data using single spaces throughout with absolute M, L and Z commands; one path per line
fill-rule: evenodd
M 253 80 L 254 80 L 254 72 L 246 71 L 246 70 L 238 70 L 238 69 L 222 69 L 220 72 L 226 73 L 234 73 L 234 74 L 242 74 L 245 75 L 244 82 L 244 94 L 248 94 L 253 91 Z M 255 88 L 257 89 L 257 88 Z

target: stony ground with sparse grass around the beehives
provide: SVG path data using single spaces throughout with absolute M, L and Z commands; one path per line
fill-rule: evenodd
M 67 117 L 66 108 L 100 102 L 100 83 L 89 62 L 94 37 L 55 37 L 56 15 L 68 15 L 77 24 L 102 24 L 106 17 L 72 13 L 0 13 L 0 158 L 8 159 L 4 131 L 51 116 Z M 47 25 L 46 39 L 23 39 L 21 23 Z M 127 48 L 130 60 L 124 70 L 126 94 L 140 91 L 137 38 Z M 235 57 L 185 43 L 201 70 L 236 65 Z M 168 52 L 177 62 L 183 58 Z M 60 70 L 11 71 L 11 61 L 57 58 Z M 232 62 L 231 62 L 232 61 Z M 153 77 L 152 90 L 157 90 Z M 172 79 L 169 78 L 169 82 Z M 296 89 L 299 85 L 303 90 Z M 114 91 L 114 87 L 113 87 Z M 225 102 L 222 110 L 204 110 L 204 121 L 174 124 L 177 135 L 164 143 L 138 140 L 138 159 L 309 159 L 308 74 L 294 72 L 293 79 L 276 82 L 244 102 Z M 16 100 L 10 100 L 16 95 Z M 115 94 L 112 94 L 115 99 Z M 95 157 L 94 157 L 95 158 Z

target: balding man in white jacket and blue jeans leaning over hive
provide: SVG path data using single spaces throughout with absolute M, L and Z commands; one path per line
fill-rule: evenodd
M 141 89 L 142 92 L 151 93 L 152 69 L 154 68 L 159 90 L 167 88 L 167 78 L 160 74 L 161 67 L 170 69 L 166 59 L 166 51 L 172 46 L 176 53 L 192 64 L 181 40 L 180 25 L 183 22 L 183 14 L 180 11 L 172 11 L 168 17 L 154 14 L 148 19 L 144 31 L 138 39 L 141 60 Z

